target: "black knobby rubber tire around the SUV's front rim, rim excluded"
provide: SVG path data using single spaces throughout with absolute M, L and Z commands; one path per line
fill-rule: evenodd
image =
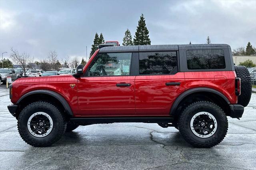
M 36 112 L 47 113 L 53 121 L 53 127 L 50 134 L 41 138 L 33 136 L 27 127 L 28 119 Z M 22 109 L 18 117 L 18 132 L 20 133 L 22 139 L 31 146 L 50 146 L 62 137 L 62 134 L 65 133 L 65 130 L 66 121 L 64 115 L 60 113 L 60 110 L 56 106 L 48 102 L 37 101 L 31 103 Z

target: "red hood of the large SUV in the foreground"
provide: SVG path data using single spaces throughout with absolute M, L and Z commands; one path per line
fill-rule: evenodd
M 52 75 L 52 76 L 42 76 L 42 77 L 20 77 L 16 79 L 13 83 L 19 84 L 38 84 L 38 83 L 56 83 L 56 82 L 68 82 L 68 81 L 77 81 L 72 75 Z

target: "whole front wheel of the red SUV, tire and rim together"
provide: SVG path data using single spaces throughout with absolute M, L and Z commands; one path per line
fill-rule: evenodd
M 20 112 L 18 131 L 31 146 L 50 146 L 57 142 L 66 130 L 64 115 L 48 102 L 29 104 Z

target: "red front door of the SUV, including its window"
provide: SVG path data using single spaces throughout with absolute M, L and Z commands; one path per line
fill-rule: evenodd
M 132 53 L 98 53 L 78 79 L 81 116 L 135 115 L 135 76 L 130 76 Z

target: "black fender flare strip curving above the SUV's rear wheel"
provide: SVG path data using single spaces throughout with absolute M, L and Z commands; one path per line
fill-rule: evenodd
M 178 108 L 178 105 L 180 104 L 180 102 L 187 97 L 188 95 L 191 95 L 192 93 L 196 93 L 196 92 L 210 92 L 210 93 L 214 93 L 220 97 L 222 97 L 222 99 L 224 99 L 228 104 L 230 104 L 230 101 L 226 98 L 226 96 L 224 96 L 222 93 L 220 93 L 217 90 L 214 89 L 210 89 L 210 88 L 205 88 L 205 87 L 199 87 L 199 88 L 194 88 L 194 89 L 189 89 L 187 91 L 185 91 L 184 93 L 182 93 L 173 103 L 171 111 L 170 111 L 170 115 L 174 115 L 176 109 Z

